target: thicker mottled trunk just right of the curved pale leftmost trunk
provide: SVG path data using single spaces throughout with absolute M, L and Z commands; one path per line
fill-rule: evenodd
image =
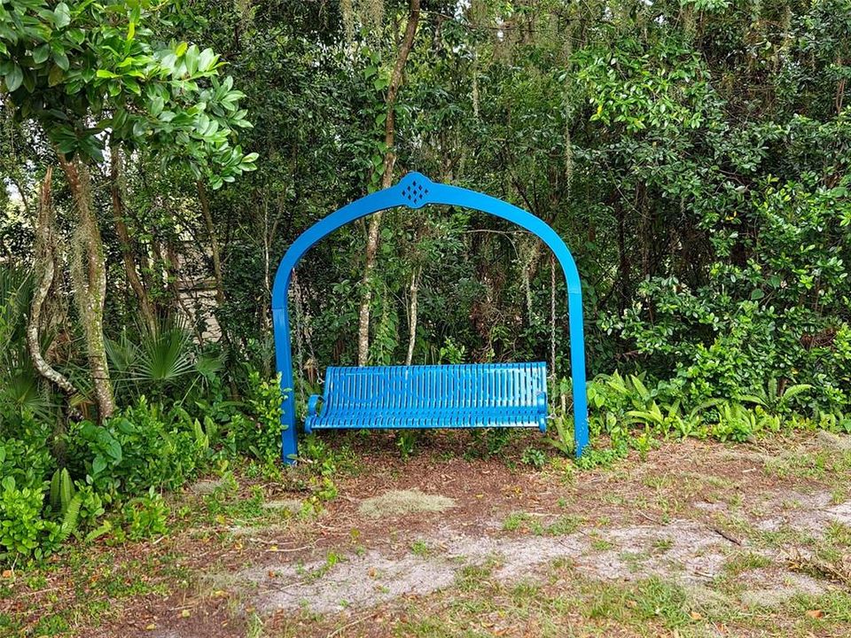
M 83 337 L 89 357 L 89 373 L 98 403 L 98 418 L 103 421 L 113 415 L 115 399 L 109 377 L 104 339 L 104 301 L 106 298 L 106 264 L 104 244 L 98 220 L 91 209 L 89 167 L 79 159 L 68 161 L 61 152 L 59 164 L 65 171 L 68 186 L 77 206 L 77 228 L 74 230 L 71 253 L 71 274 L 74 278 L 74 300 L 80 312 Z

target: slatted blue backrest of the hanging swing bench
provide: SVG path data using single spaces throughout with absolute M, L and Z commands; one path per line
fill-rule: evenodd
M 547 405 L 546 363 L 329 367 L 329 409 L 540 408 Z

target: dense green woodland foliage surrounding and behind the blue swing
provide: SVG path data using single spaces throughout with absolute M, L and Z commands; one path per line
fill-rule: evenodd
M 116 502 L 131 536 L 156 533 L 152 486 L 277 455 L 277 261 L 379 187 L 408 11 L 0 4 L 4 556 L 97 533 Z M 565 238 L 585 292 L 592 428 L 611 441 L 584 463 L 660 436 L 851 430 L 849 76 L 848 0 L 423 4 L 393 107 L 395 176 L 505 198 Z M 91 167 L 103 237 L 118 403 L 105 420 L 69 301 L 79 214 L 66 175 L 53 178 L 59 274 L 38 332 L 78 392 L 45 381 L 27 351 L 38 185 L 72 154 Z M 355 362 L 364 236 L 340 230 L 300 265 L 300 402 L 325 366 Z M 568 376 L 564 285 L 523 233 L 464 210 L 392 211 L 377 259 L 371 362 L 404 361 L 416 288 L 414 362 L 549 361 L 554 346 Z M 554 389 L 551 440 L 569 454 L 569 388 Z

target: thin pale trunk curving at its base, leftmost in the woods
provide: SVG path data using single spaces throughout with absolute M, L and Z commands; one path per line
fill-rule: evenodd
M 53 285 L 53 275 L 56 257 L 53 253 L 55 238 L 53 237 L 53 202 L 51 200 L 51 182 L 53 169 L 48 167 L 44 175 L 42 187 L 38 197 L 38 216 L 35 220 L 35 272 L 36 287 L 33 302 L 29 311 L 29 322 L 27 323 L 27 346 L 33 360 L 35 370 L 42 377 L 59 387 L 67 394 L 78 393 L 67 377 L 55 370 L 50 363 L 44 360 L 41 342 L 38 338 L 38 329 L 42 320 L 42 307 L 44 300 Z

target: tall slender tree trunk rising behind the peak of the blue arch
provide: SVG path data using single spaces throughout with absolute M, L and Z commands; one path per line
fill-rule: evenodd
M 405 65 L 408 62 L 410 50 L 414 46 L 414 36 L 417 35 L 419 23 L 420 0 L 410 0 L 408 11 L 408 25 L 405 27 L 405 35 L 399 45 L 399 54 L 393 74 L 390 76 L 390 85 L 387 87 L 386 107 L 387 118 L 384 121 L 384 167 L 381 175 L 381 188 L 389 188 L 393 183 L 393 167 L 396 163 L 395 145 L 395 105 L 399 89 L 402 87 L 402 76 Z M 375 270 L 375 258 L 379 252 L 379 236 L 381 230 L 381 212 L 372 214 L 370 227 L 366 237 L 366 261 L 363 264 L 363 292 L 361 296 L 361 311 L 358 317 L 357 328 L 357 364 L 366 365 L 370 355 L 370 307 L 372 303 L 372 272 Z

